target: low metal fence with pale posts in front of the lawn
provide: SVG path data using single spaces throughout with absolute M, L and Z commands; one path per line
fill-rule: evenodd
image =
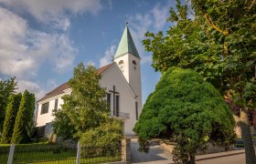
M 117 148 L 117 149 L 116 149 Z M 80 145 L 26 144 L 0 147 L 0 163 L 5 164 L 68 164 L 68 163 L 107 163 L 120 161 L 122 145 L 88 148 Z

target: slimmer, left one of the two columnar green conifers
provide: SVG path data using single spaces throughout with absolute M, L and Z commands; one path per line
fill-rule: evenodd
M 16 114 L 20 105 L 22 94 L 13 94 L 10 96 L 9 104 L 6 108 L 6 114 L 5 114 L 5 122 L 4 122 L 4 128 L 2 133 L 2 143 L 10 143 L 12 139 L 12 135 L 14 132 L 14 127 L 16 123 Z

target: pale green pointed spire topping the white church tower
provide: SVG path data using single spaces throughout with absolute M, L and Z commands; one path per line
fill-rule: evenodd
M 115 58 L 118 57 L 118 56 L 123 56 L 123 54 L 126 54 L 126 53 L 131 53 L 133 56 L 136 56 L 138 58 L 141 58 L 139 56 L 139 53 L 136 49 L 136 46 L 134 45 L 134 42 L 133 42 L 133 37 L 129 31 L 129 28 L 127 26 L 127 22 L 126 22 L 126 26 L 124 28 L 124 31 L 123 31 L 123 36 L 121 38 L 121 41 L 119 43 L 119 46 L 117 48 L 117 51 L 115 53 Z

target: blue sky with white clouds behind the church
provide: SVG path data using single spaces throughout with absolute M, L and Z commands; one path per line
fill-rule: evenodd
M 110 63 L 128 17 L 142 57 L 145 101 L 160 73 L 144 51 L 144 33 L 165 32 L 174 5 L 174 0 L 0 0 L 0 79 L 16 77 L 19 91 L 42 97 L 68 81 L 78 63 Z

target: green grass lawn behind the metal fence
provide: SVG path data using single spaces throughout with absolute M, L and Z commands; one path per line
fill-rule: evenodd
M 6 163 L 8 160 L 10 145 L 0 144 L 0 163 Z M 16 145 L 14 154 L 14 163 L 40 163 L 40 164 L 64 164 L 75 163 L 76 149 L 68 149 L 57 145 L 24 144 Z M 101 163 L 108 161 L 117 161 L 120 157 L 98 157 L 91 159 L 80 159 L 80 163 Z

